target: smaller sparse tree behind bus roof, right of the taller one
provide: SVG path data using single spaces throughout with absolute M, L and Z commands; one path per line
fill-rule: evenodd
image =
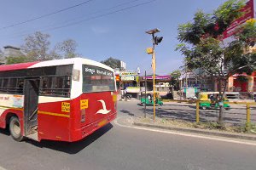
M 61 52 L 65 59 L 70 59 L 79 57 L 79 54 L 76 54 L 77 47 L 77 42 L 75 42 L 73 39 L 67 39 L 64 42 L 57 43 L 55 48 Z

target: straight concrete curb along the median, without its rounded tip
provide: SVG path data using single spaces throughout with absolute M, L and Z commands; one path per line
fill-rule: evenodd
M 147 124 L 147 123 L 141 123 L 141 122 L 133 122 L 132 124 L 138 127 L 153 127 L 153 128 L 160 128 L 160 129 L 179 131 L 179 132 L 185 132 L 185 133 L 200 133 L 208 136 L 219 136 L 219 137 L 225 137 L 230 139 L 246 139 L 246 140 L 256 141 L 256 135 L 252 136 L 252 135 L 235 134 L 235 133 L 220 133 L 220 132 L 211 132 L 206 130 L 181 128 L 181 127 L 165 127 L 165 126 L 153 125 L 153 124 Z

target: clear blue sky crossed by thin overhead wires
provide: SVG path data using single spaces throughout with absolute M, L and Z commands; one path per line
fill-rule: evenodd
M 0 28 L 21 21 L 49 14 L 85 0 L 22 0 L 2 1 L 0 6 Z M 19 47 L 28 34 L 35 31 L 49 33 L 51 45 L 72 38 L 78 42 L 78 52 L 84 58 L 101 61 L 108 57 L 125 61 L 128 70 L 151 71 L 151 56 L 145 49 L 152 45 L 151 37 L 145 31 L 159 28 L 159 36 L 164 37 L 156 47 L 157 73 L 168 74 L 182 65 L 183 56 L 175 51 L 177 26 L 192 20 L 198 9 L 211 13 L 224 0 L 155 0 L 136 8 L 115 14 L 108 14 L 121 8 L 129 8 L 152 0 L 93 0 L 77 8 L 54 14 L 40 20 L 0 29 L 0 47 L 13 45 Z M 120 3 L 127 3 L 112 8 Z M 111 8 L 111 9 L 109 9 Z M 97 12 L 97 13 L 96 13 Z M 92 20 L 92 17 L 108 14 Z M 78 25 L 61 29 L 52 28 L 70 22 L 85 20 Z

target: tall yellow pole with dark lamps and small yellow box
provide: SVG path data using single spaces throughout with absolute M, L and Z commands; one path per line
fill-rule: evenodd
M 155 33 L 160 32 L 159 29 L 155 28 L 153 30 L 146 31 L 147 34 L 152 35 L 152 42 L 153 42 L 153 48 L 147 48 L 147 53 L 152 54 L 152 69 L 153 69 L 153 113 L 154 113 L 154 120 L 155 120 L 155 94 L 154 94 L 154 78 L 155 78 L 155 53 L 154 53 L 154 46 L 158 45 L 163 37 L 156 37 L 154 36 Z M 147 87 L 145 87 L 147 88 Z

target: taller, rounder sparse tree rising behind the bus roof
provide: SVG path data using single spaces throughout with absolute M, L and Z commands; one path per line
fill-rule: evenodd
M 22 51 L 30 61 L 49 60 L 49 34 L 36 31 L 25 38 L 25 44 L 21 46 Z

